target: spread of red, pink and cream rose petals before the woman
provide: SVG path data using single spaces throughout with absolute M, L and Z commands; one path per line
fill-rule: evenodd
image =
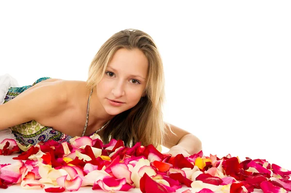
M 19 147 L 21 149 L 19 149 Z M 25 150 L 25 151 L 24 151 Z M 124 146 L 121 140 L 104 145 L 100 137 L 75 137 L 69 143 L 55 141 L 25 148 L 12 139 L 0 143 L 0 155 L 19 152 L 13 164 L 0 164 L 0 188 L 20 183 L 24 189 L 60 193 L 82 186 L 106 192 L 140 188 L 143 193 L 264 193 L 291 191 L 291 171 L 266 160 L 222 159 L 202 151 L 190 157 L 162 154 L 153 145 Z M 50 184 L 50 186 L 47 186 Z

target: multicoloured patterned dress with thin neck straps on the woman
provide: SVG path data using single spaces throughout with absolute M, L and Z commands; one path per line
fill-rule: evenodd
M 9 100 L 12 100 L 16 96 L 18 96 L 20 93 L 32 87 L 33 85 L 37 84 L 38 82 L 47 80 L 47 79 L 50 79 L 50 78 L 49 77 L 40 78 L 36 80 L 32 85 L 28 85 L 28 86 L 10 87 L 7 95 L 5 96 L 4 103 L 8 102 Z M 92 95 L 92 91 L 91 91 L 90 96 L 91 95 Z M 85 133 L 85 130 L 88 124 L 90 96 L 88 99 L 86 124 L 83 131 L 83 135 Z M 101 129 L 103 129 L 104 126 L 106 126 L 108 123 L 109 121 L 105 125 L 103 125 Z M 26 123 L 22 123 L 20 125 L 13 126 L 8 129 L 11 129 L 12 133 L 16 137 L 16 140 L 21 145 L 25 145 L 25 146 L 36 145 L 39 142 L 46 142 L 48 140 L 54 140 L 59 143 L 63 143 L 63 142 L 69 143 L 69 140 L 73 138 L 72 136 L 66 135 L 65 133 L 59 132 L 51 127 L 43 126 L 34 120 L 26 122 Z M 101 129 L 98 129 L 96 132 L 98 132 Z M 93 135 L 94 133 L 90 134 L 89 136 Z

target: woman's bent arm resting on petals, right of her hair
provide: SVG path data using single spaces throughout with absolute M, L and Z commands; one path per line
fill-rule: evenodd
M 170 131 L 169 127 L 176 135 Z M 170 149 L 167 153 L 172 156 L 177 154 L 190 156 L 202 150 L 201 141 L 190 132 L 167 123 L 165 123 L 165 130 L 167 134 L 163 146 Z

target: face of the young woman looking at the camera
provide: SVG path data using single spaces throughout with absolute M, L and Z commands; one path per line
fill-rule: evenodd
M 97 84 L 98 100 L 108 114 L 129 110 L 145 96 L 147 69 L 147 58 L 139 49 L 120 48 L 114 53 Z

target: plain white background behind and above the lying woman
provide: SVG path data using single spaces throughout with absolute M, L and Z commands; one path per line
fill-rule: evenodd
M 20 85 L 86 80 L 115 32 L 148 33 L 162 55 L 164 119 L 204 154 L 291 170 L 291 2 L 0 1 L 0 75 Z

